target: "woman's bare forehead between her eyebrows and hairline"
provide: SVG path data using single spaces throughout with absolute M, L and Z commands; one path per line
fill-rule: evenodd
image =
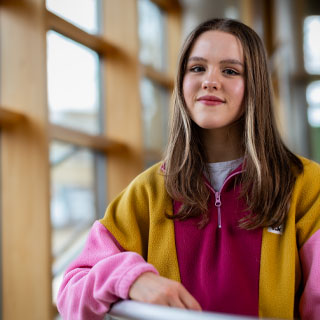
M 240 40 L 234 35 L 217 30 L 202 33 L 194 42 L 189 57 L 236 59 L 243 62 Z

